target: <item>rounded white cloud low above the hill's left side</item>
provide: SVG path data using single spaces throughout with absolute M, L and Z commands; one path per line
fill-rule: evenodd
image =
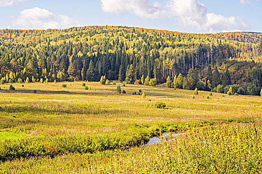
M 12 20 L 12 24 L 24 29 L 68 28 L 80 26 L 79 21 L 66 15 L 56 15 L 47 9 L 38 7 L 20 11 L 20 15 Z

